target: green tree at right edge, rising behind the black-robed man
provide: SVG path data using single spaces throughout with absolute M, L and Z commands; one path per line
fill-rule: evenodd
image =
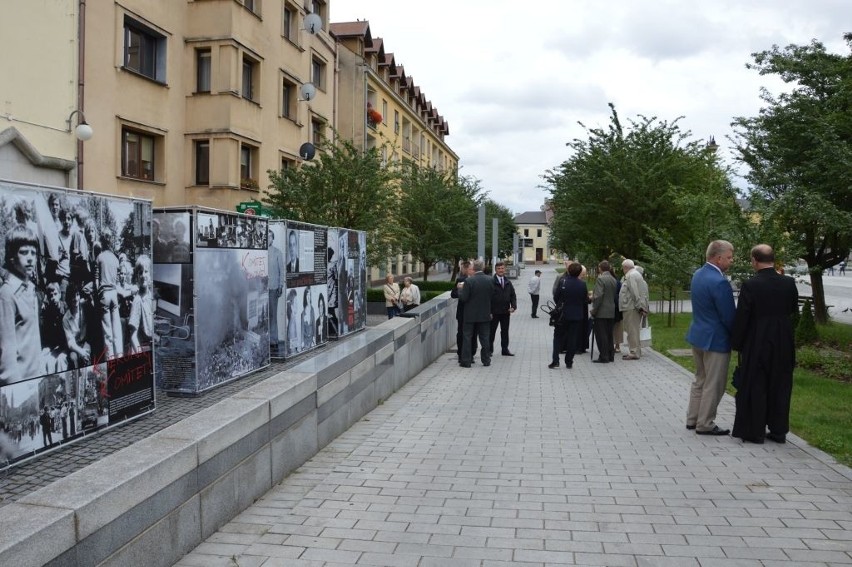
M 852 49 L 852 34 L 844 36 Z M 822 271 L 852 247 L 852 53 L 814 40 L 752 54 L 750 69 L 790 85 L 755 117 L 734 120 L 738 160 L 748 166 L 762 222 L 787 233 L 808 263 L 816 320 L 828 320 Z

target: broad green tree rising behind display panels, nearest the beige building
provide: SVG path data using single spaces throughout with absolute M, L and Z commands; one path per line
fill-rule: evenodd
M 315 161 L 270 170 L 265 204 L 277 218 L 366 231 L 368 261 L 379 264 L 399 249 L 397 174 L 377 148 L 337 138 L 319 150 Z

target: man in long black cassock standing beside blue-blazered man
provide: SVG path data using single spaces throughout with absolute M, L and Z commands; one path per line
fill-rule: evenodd
M 751 265 L 757 275 L 740 289 L 731 333 L 742 376 L 731 436 L 752 443 L 763 443 L 764 438 L 784 443 L 796 365 L 792 316 L 798 309 L 798 291 L 793 278 L 775 271 L 769 245 L 751 249 Z

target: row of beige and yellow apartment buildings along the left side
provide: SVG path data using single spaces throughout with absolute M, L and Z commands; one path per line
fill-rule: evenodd
M 263 198 L 268 170 L 297 165 L 303 144 L 335 130 L 386 161 L 455 172 L 447 121 L 368 22 L 329 24 L 330 8 L 8 0 L 0 178 L 234 210 Z M 412 271 L 404 259 L 392 267 Z

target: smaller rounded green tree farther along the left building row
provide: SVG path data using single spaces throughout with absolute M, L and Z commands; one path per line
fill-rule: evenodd
M 400 179 L 402 248 L 423 263 L 423 280 L 438 260 L 454 258 L 475 238 L 476 195 L 455 175 L 414 163 Z

